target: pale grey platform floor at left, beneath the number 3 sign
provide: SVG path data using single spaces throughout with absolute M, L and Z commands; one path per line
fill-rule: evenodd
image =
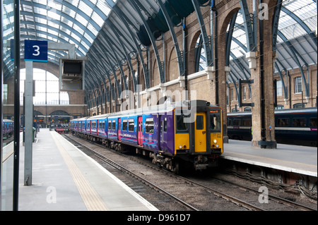
M 45 128 L 33 143 L 33 185 L 24 186 L 22 143 L 19 176 L 20 211 L 158 210 L 61 135 Z

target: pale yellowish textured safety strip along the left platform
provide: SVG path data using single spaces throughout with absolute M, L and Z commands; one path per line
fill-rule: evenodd
M 57 147 L 64 159 L 64 162 L 69 168 L 73 181 L 75 182 L 88 211 L 108 211 L 109 209 L 107 209 L 104 202 L 102 202 L 102 200 L 100 199 L 98 193 L 96 193 L 85 176 L 83 176 L 81 170 L 78 169 L 78 166 L 76 166 L 75 162 L 73 162 L 73 159 L 71 159 L 63 145 L 61 145 L 61 142 L 59 142 L 57 138 L 54 137 L 54 133 L 52 133 L 52 137 L 57 144 Z

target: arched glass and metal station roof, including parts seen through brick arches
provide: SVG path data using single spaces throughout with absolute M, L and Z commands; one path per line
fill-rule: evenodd
M 174 26 L 194 12 L 192 0 L 161 0 Z M 208 0 L 199 0 L 209 4 Z M 13 4 L 4 1 L 4 39 L 13 38 Z M 145 24 L 147 23 L 147 24 Z M 86 82 L 90 90 L 97 87 L 106 75 L 119 71 L 127 59 L 134 59 L 144 51 L 151 40 L 145 25 L 153 30 L 155 38 L 169 30 L 158 1 L 152 0 L 20 0 L 21 49 L 24 39 L 76 45 L 77 56 L 86 56 Z M 237 13 L 232 35 L 228 83 L 248 78 L 245 59 L 247 40 L 242 13 Z M 276 70 L 317 64 L 317 1 L 283 1 L 280 13 Z M 316 39 L 314 39 L 316 37 Z M 295 50 L 294 50 L 295 49 Z M 58 64 L 66 57 L 64 51 L 49 51 L 48 60 Z M 21 51 L 21 58 L 24 57 Z M 95 63 L 96 61 L 100 61 Z M 204 51 L 201 54 L 204 62 Z M 5 59 L 8 73 L 13 73 L 10 59 Z M 204 63 L 200 64 L 200 69 Z M 105 74 L 100 74 L 104 71 Z M 6 75 L 5 75 L 6 77 Z M 95 84 L 94 84 L 95 83 Z

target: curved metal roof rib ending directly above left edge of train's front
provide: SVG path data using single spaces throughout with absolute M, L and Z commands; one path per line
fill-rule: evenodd
M 185 75 L 184 57 L 182 56 L 182 52 L 179 49 L 179 42 L 177 40 L 177 36 L 175 35 L 175 28 L 172 25 L 172 20 L 171 20 L 169 14 L 167 13 L 167 9 L 165 8 L 165 6 L 163 6 L 163 1 L 158 0 L 158 4 L 159 4 L 161 10 L 163 11 L 163 16 L 165 16 L 165 20 L 167 21 L 167 25 L 168 25 L 170 33 L 171 33 L 173 44 L 175 45 L 175 51 L 176 51 L 177 58 L 178 58 L 179 75 L 184 76 Z M 185 52 L 183 54 L 185 54 Z

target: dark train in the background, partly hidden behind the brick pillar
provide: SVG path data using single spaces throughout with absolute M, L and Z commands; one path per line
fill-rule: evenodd
M 317 147 L 317 108 L 275 110 L 278 143 Z M 228 137 L 252 140 L 252 112 L 228 113 Z

